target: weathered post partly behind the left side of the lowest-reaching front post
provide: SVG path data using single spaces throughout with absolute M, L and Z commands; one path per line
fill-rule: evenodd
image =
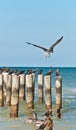
M 11 89 L 12 89 L 12 75 L 8 75 L 6 85 L 6 105 L 11 106 Z

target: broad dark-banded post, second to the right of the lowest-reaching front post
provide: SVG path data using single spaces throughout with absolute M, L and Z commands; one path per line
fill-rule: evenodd
M 29 109 L 34 108 L 32 74 L 26 75 L 26 104 L 27 108 Z

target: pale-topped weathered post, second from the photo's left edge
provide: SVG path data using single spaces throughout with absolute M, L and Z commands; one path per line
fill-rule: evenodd
M 8 82 L 8 72 L 3 72 L 3 93 L 4 93 L 4 100 L 6 100 L 6 86 Z

